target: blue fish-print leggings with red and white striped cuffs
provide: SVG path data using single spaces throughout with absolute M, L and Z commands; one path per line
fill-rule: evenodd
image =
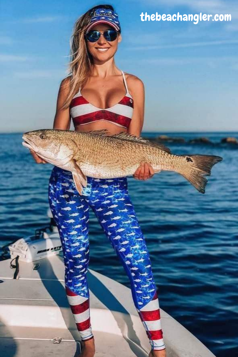
M 60 233 L 65 263 L 65 290 L 82 341 L 93 338 L 87 267 L 89 208 L 95 213 L 130 279 L 133 302 L 152 350 L 163 350 L 159 301 L 145 238 L 127 191 L 127 178 L 87 176 L 83 195 L 70 171 L 54 166 L 49 203 Z

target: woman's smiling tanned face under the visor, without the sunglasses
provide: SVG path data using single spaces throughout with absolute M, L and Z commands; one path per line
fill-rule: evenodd
M 114 30 L 114 27 L 108 24 L 97 24 L 90 30 L 105 31 L 112 29 Z M 120 34 L 118 34 L 116 40 L 114 41 L 107 41 L 103 34 L 101 34 L 96 42 L 89 42 L 85 39 L 88 52 L 90 52 L 93 60 L 96 62 L 105 62 L 112 58 L 117 51 L 118 42 L 121 42 L 121 40 L 122 36 Z

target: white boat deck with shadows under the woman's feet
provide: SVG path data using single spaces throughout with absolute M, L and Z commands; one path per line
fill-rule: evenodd
M 65 294 L 62 256 L 33 263 L 19 261 L 17 279 L 13 279 L 10 261 L 0 261 L 1 355 L 79 356 L 80 335 Z M 37 263 L 39 269 L 33 270 Z M 87 278 L 96 357 L 147 357 L 150 344 L 131 290 L 91 269 Z M 162 309 L 161 320 L 167 357 L 214 357 Z M 61 342 L 53 343 L 55 338 Z

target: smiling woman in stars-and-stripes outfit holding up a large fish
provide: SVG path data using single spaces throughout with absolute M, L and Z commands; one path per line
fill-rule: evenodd
M 75 130 L 107 129 L 109 135 L 125 131 L 140 136 L 144 87 L 140 79 L 125 75 L 115 65 L 121 39 L 118 16 L 111 5 L 93 7 L 76 21 L 71 76 L 60 85 L 54 129 L 69 130 L 72 117 Z M 35 152 L 32 155 L 36 162 L 46 163 Z M 152 166 L 142 162 L 133 177 L 146 180 L 153 174 Z M 156 285 L 145 238 L 128 195 L 127 178 L 87 177 L 87 182 L 80 196 L 71 172 L 55 166 L 49 183 L 50 207 L 64 252 L 66 294 L 82 340 L 80 356 L 95 354 L 86 278 L 91 207 L 130 278 L 132 298 L 152 347 L 149 357 L 164 357 Z

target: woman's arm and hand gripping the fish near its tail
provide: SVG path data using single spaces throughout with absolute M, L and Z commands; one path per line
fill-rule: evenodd
M 132 80 L 133 78 L 133 80 Z M 131 76 L 132 97 L 134 101 L 133 116 L 128 127 L 128 133 L 141 136 L 145 112 L 145 88 L 143 82 L 136 76 Z M 155 174 L 153 167 L 148 162 L 141 162 L 133 177 L 137 180 L 147 180 Z

